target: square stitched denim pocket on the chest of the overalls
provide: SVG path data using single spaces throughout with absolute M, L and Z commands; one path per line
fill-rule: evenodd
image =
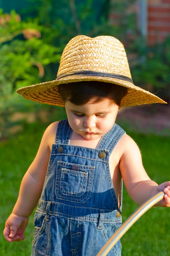
M 94 166 L 57 162 L 55 194 L 68 202 L 85 203 L 91 197 Z

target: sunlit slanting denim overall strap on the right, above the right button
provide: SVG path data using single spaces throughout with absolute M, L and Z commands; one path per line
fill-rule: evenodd
M 125 133 L 119 125 L 114 124 L 113 128 L 102 137 L 97 148 L 109 150 L 111 153 Z

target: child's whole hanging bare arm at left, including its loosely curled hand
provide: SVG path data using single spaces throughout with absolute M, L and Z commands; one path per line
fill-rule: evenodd
M 24 239 L 28 218 L 42 193 L 55 128 L 56 124 L 52 124 L 44 132 L 38 153 L 22 179 L 17 202 L 5 223 L 4 237 L 9 242 Z

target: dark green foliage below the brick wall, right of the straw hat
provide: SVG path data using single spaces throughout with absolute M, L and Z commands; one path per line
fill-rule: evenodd
M 163 89 L 161 96 L 170 97 L 170 37 L 154 46 L 136 41 L 133 47 L 137 53 L 137 61 L 131 69 L 134 83 L 153 93 Z

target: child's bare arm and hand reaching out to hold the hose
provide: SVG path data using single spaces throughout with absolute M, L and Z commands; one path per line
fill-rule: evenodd
M 125 135 L 123 140 L 121 143 L 123 143 L 124 152 L 119 166 L 124 184 L 132 200 L 140 205 L 152 195 L 159 191 L 164 191 L 166 195 L 158 205 L 169 207 L 170 182 L 165 182 L 158 186 L 156 182 L 150 180 L 142 164 L 141 153 L 135 141 L 128 135 Z

